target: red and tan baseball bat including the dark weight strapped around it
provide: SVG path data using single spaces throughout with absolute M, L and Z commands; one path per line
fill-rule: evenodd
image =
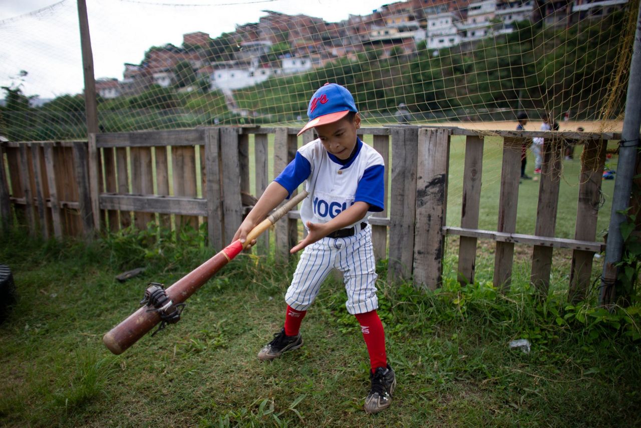
M 296 207 L 300 201 L 307 197 L 309 193 L 303 191 L 297 194 L 285 205 L 275 210 L 273 214 L 264 219 L 254 227 L 249 234 L 245 244 L 240 241 L 234 241 L 224 250 L 217 253 L 208 261 L 198 266 L 196 269 L 180 278 L 167 290 L 163 289 L 162 284 L 152 282 L 145 297 L 140 302 L 144 305 L 138 311 L 131 314 L 126 320 L 113 327 L 110 332 L 104 335 L 103 343 L 113 354 L 122 354 L 127 348 L 131 347 L 138 339 L 142 338 L 149 330 L 153 329 L 156 324 L 162 321 L 160 329 L 165 323 L 176 323 L 180 320 L 180 313 L 185 305 L 183 302 L 189 296 L 194 294 L 199 287 L 213 275 L 221 270 L 231 259 L 236 257 L 244 248 L 247 248 L 253 239 L 265 232 L 278 219 L 283 217 L 289 210 Z

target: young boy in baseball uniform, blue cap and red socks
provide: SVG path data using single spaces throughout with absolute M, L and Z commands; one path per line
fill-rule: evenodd
M 374 413 L 390 406 L 396 386 L 394 370 L 387 364 L 385 332 L 376 313 L 377 275 L 372 230 L 367 223 L 372 212 L 383 210 L 383 158 L 356 137 L 361 119 L 354 98 L 344 87 L 335 83 L 320 87 L 310 100 L 307 115 L 310 121 L 298 135 L 315 128 L 319 138 L 297 151 L 234 236 L 244 242 L 255 225 L 305 182 L 310 196 L 303 201 L 301 219 L 308 234 L 290 250 L 304 249 L 285 295 L 285 325 L 258 352 L 258 359 L 278 358 L 303 346 L 301 321 L 320 284 L 336 268 L 344 275 L 347 312 L 360 323 L 369 352 L 372 387 L 365 411 Z

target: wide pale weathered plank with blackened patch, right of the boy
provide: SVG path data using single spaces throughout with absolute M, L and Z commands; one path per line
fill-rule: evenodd
M 413 277 L 433 290 L 443 273 L 449 132 L 422 128 L 418 143 Z

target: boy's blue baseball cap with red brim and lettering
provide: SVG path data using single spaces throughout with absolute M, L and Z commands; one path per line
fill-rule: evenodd
M 310 99 L 307 108 L 310 121 L 303 126 L 298 135 L 315 126 L 339 121 L 349 112 L 358 112 L 349 90 L 336 83 L 325 83 Z

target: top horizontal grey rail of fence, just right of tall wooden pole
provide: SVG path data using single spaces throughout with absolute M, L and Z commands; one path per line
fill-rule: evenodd
M 203 143 L 203 128 L 191 130 L 162 130 L 99 133 L 96 146 L 101 147 L 158 147 L 194 146 Z

